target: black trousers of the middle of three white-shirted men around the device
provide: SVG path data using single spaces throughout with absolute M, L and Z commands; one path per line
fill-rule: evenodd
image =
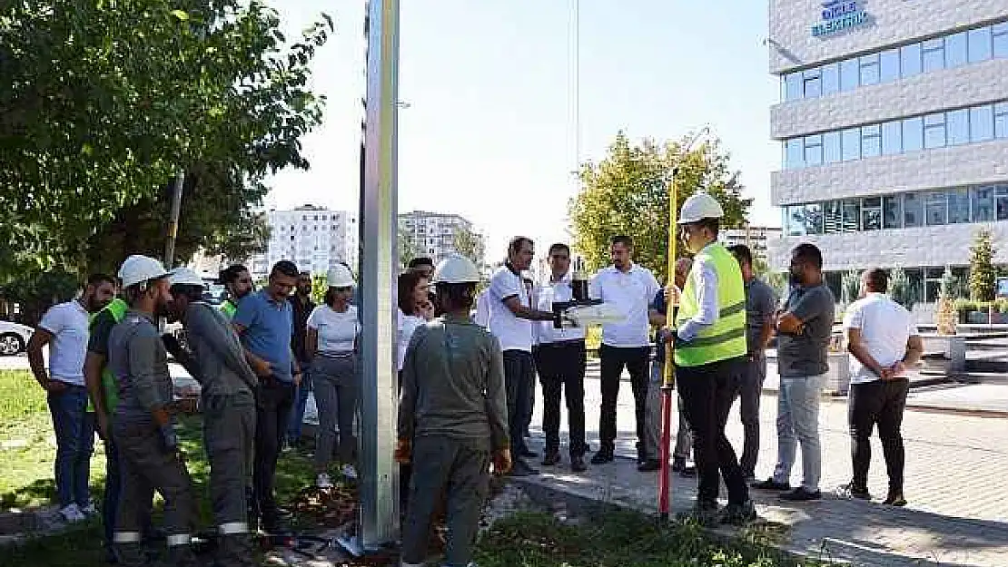
M 542 430 L 546 452 L 560 446 L 560 395 L 566 390 L 568 429 L 571 456 L 585 454 L 585 366 L 584 340 L 546 342 L 534 350 L 535 368 L 542 384 Z

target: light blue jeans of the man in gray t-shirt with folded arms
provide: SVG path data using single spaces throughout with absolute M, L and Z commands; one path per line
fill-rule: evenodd
M 818 405 L 826 375 L 780 379 L 777 394 L 777 466 L 773 479 L 789 482 L 797 444 L 801 444 L 801 486 L 818 490 L 823 472 Z

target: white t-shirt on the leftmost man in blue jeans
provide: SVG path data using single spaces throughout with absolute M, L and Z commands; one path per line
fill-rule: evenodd
M 88 353 L 88 310 L 76 299 L 49 307 L 38 326 L 52 334 L 49 377 L 84 386 L 84 359 Z

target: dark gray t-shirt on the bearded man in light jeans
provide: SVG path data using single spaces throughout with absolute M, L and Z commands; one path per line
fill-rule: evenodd
M 795 287 L 787 296 L 784 311 L 798 318 L 800 334 L 780 334 L 777 338 L 777 367 L 781 378 L 820 376 L 830 370 L 827 349 L 833 332 L 836 301 L 825 283 Z

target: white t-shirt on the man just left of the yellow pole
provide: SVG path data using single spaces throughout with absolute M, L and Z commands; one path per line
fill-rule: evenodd
M 647 308 L 659 290 L 658 280 L 647 268 L 632 265 L 627 272 L 610 266 L 592 279 L 590 294 L 615 306 L 626 315 L 621 323 L 602 325 L 602 343 L 607 346 L 648 346 Z

